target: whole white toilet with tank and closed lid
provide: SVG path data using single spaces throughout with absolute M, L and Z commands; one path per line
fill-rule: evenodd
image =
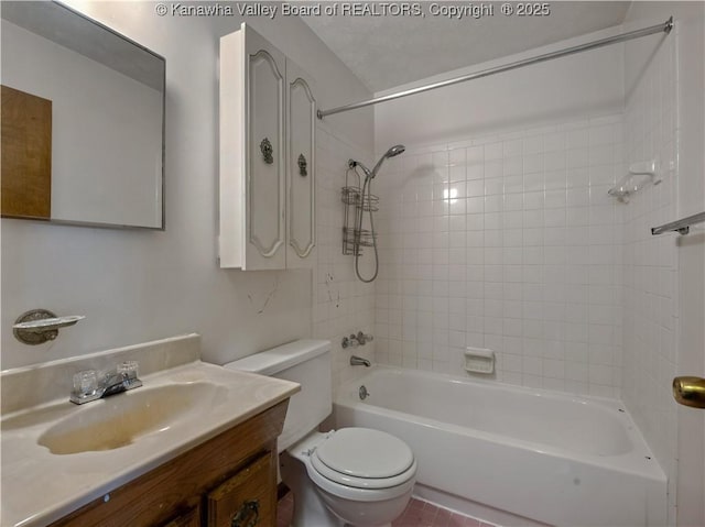
M 292 527 L 388 526 L 401 515 L 416 475 L 406 443 L 369 428 L 316 431 L 333 409 L 330 342 L 299 340 L 226 367 L 301 384 L 278 442 L 294 494 Z

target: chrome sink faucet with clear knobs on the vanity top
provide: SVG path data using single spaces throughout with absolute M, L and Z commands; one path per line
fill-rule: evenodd
M 74 375 L 74 388 L 69 400 L 77 405 L 90 403 L 102 397 L 139 388 L 142 381 L 138 378 L 138 363 L 123 362 L 115 370 L 98 373 L 95 370 L 86 370 Z

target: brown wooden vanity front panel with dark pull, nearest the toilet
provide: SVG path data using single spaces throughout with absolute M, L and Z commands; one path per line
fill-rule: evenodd
M 270 452 L 207 496 L 208 527 L 276 525 L 276 454 Z

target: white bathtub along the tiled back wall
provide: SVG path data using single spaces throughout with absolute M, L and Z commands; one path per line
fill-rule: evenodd
M 480 519 L 666 525 L 666 477 L 618 400 L 375 366 L 338 391 L 334 418 L 403 439 L 415 494 Z

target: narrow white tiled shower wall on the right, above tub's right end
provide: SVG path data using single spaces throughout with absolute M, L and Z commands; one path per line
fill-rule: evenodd
M 677 33 L 672 36 L 677 37 Z M 677 413 L 671 396 L 677 364 L 677 234 L 652 237 L 650 228 L 679 217 L 676 37 L 663 40 L 651 56 L 633 92 L 628 95 L 625 114 L 625 162 L 658 160 L 662 182 L 646 186 L 621 206 L 622 397 L 670 483 L 675 481 L 677 449 Z M 629 48 L 626 56 L 630 57 Z M 671 503 L 669 525 L 674 524 L 673 507 Z

